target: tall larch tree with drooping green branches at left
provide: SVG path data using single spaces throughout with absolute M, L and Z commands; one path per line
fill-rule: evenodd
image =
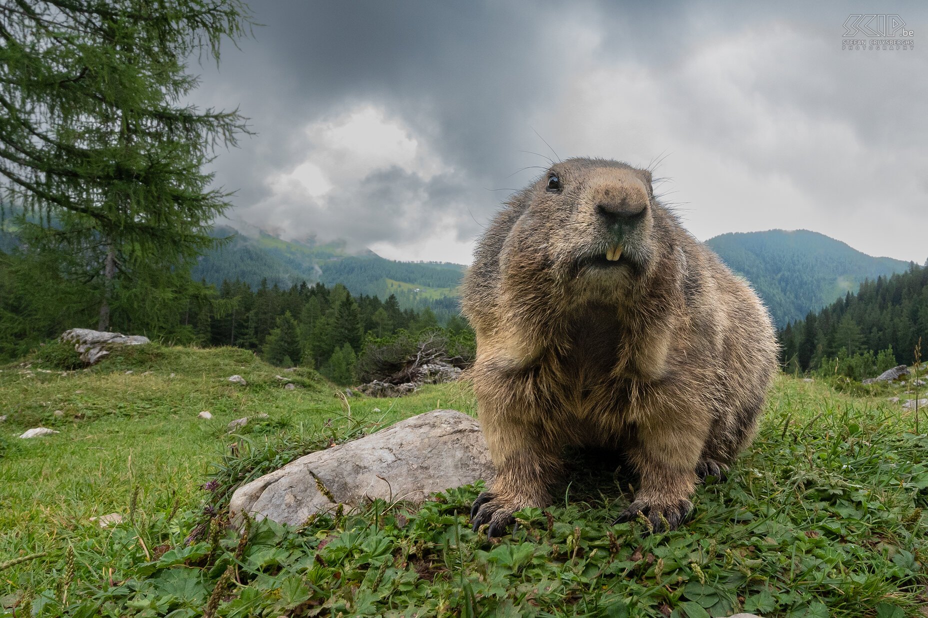
M 216 243 L 230 194 L 204 167 L 248 128 L 188 102 L 188 64 L 250 26 L 239 0 L 0 3 L 0 216 L 29 251 L 80 257 L 61 275 L 97 295 L 100 330 L 114 305 L 157 321 Z

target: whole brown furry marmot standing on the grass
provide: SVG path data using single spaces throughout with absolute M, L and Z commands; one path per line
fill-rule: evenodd
M 750 443 L 777 367 L 754 291 L 617 161 L 556 163 L 509 200 L 462 304 L 496 465 L 471 517 L 491 536 L 551 503 L 566 445 L 622 449 L 640 487 L 619 520 L 676 528 L 698 479 Z

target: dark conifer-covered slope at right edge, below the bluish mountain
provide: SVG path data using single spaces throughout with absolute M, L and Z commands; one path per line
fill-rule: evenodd
M 924 360 L 928 356 L 928 267 L 912 264 L 905 273 L 866 281 L 857 293 L 847 293 L 821 311 L 787 325 L 780 331 L 781 360 L 806 371 L 885 351 L 895 359 L 893 364 L 909 365 L 920 338 Z

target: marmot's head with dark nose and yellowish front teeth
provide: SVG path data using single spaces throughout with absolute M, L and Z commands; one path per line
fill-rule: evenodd
M 654 200 L 650 172 L 597 159 L 555 163 L 516 202 L 523 212 L 500 255 L 503 272 L 543 264 L 590 291 L 619 291 L 650 272 L 672 216 Z

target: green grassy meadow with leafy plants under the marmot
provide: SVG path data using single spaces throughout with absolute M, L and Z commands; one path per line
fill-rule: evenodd
M 436 407 L 474 413 L 464 384 L 342 399 L 241 350 L 157 344 L 89 371 L 0 368 L 6 615 L 925 615 L 928 437 L 888 387 L 778 380 L 754 445 L 675 532 L 612 526 L 627 479 L 579 468 L 556 505 L 490 542 L 466 516 L 480 487 L 295 529 L 223 525 L 236 484 L 308 450 Z M 40 424 L 60 433 L 16 437 Z M 122 523 L 90 521 L 110 512 Z

